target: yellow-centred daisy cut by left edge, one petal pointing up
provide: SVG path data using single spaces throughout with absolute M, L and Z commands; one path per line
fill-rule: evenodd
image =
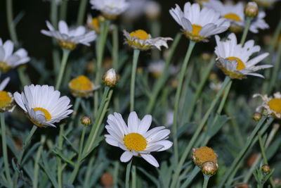
M 9 81 L 10 77 L 7 77 L 0 84 L 0 112 L 13 111 L 13 107 L 15 106 L 13 95 L 10 92 L 3 91 Z

